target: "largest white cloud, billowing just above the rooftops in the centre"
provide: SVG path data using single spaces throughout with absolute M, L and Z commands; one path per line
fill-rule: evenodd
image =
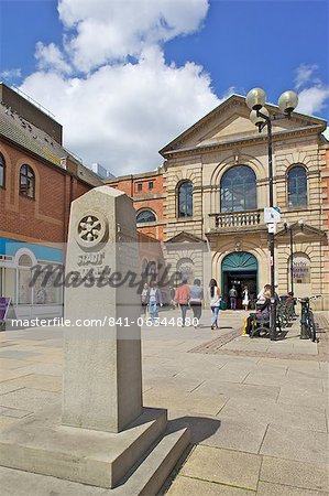
M 68 149 L 118 175 L 156 168 L 157 150 L 219 104 L 201 66 L 168 66 L 158 46 L 86 78 L 37 72 L 21 88 L 56 115 Z

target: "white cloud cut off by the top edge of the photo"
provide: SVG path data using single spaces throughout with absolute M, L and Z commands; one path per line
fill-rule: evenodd
M 208 0 L 61 0 L 65 50 L 78 71 L 139 57 L 146 46 L 200 28 Z

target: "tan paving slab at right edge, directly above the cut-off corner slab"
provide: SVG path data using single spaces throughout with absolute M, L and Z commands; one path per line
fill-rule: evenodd
M 328 467 L 318 465 L 316 461 L 306 464 L 293 460 L 264 456 L 260 479 L 305 489 L 323 492 L 329 489 Z

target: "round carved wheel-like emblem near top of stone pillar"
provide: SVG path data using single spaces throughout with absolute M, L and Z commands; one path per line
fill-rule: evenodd
M 87 212 L 76 224 L 76 240 L 84 248 L 94 248 L 105 240 L 107 219 L 99 212 Z

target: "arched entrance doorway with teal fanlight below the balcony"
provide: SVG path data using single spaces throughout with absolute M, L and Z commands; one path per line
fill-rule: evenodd
M 221 262 L 221 292 L 228 303 L 229 290 L 234 285 L 238 291 L 238 308 L 242 308 L 242 291 L 245 285 L 249 289 L 250 300 L 257 295 L 256 258 L 248 251 L 234 251 L 227 255 Z

